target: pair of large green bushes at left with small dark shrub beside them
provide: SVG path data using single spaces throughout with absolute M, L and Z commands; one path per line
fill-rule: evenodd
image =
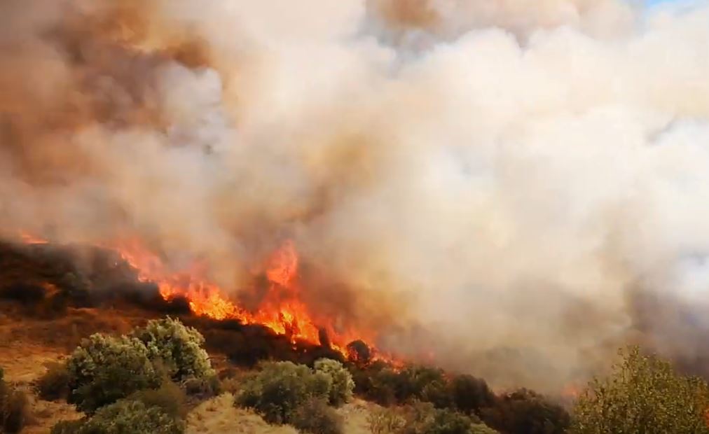
M 67 362 L 69 401 L 93 413 L 140 390 L 157 389 L 168 379 L 191 382 L 193 390 L 203 392 L 216 379 L 203 342 L 198 331 L 169 317 L 150 321 L 130 336 L 96 333 Z M 54 396 L 61 376 L 59 369 L 50 370 L 40 390 Z

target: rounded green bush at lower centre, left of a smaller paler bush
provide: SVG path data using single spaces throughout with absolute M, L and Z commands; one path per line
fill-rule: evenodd
M 269 423 L 288 423 L 308 399 L 328 399 L 332 378 L 293 362 L 267 362 L 245 380 L 235 404 L 252 408 Z

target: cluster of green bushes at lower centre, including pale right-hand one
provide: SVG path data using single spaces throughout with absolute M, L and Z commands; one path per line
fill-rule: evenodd
M 354 382 L 335 360 L 311 370 L 293 362 L 266 362 L 243 382 L 235 404 L 254 409 L 269 423 L 290 423 L 307 433 L 336 434 L 342 419 L 328 406 L 350 399 Z

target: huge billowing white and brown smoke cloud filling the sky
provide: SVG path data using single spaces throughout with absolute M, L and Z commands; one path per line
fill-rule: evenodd
M 564 382 L 631 338 L 691 359 L 697 332 L 647 318 L 704 312 L 708 22 L 616 0 L 7 0 L 1 227 L 138 236 L 228 288 L 294 239 L 318 302 L 415 322 L 435 343 L 398 345 L 493 379 Z

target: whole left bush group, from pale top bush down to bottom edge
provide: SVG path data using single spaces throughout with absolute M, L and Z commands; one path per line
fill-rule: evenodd
M 203 342 L 195 329 L 171 318 L 150 321 L 129 336 L 84 339 L 65 366 L 50 366 L 36 384 L 45 399 L 68 389 L 69 401 L 88 415 L 57 423 L 52 434 L 183 433 L 184 389 L 218 389 Z

